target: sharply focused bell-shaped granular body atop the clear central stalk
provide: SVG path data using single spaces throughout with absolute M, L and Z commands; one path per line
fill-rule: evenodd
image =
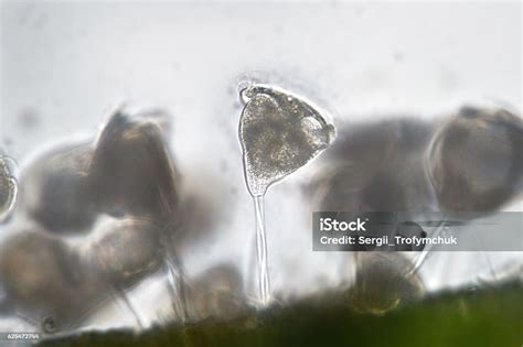
M 246 102 L 239 121 L 245 176 L 250 195 L 264 195 L 297 171 L 335 135 L 334 127 L 307 101 L 264 85 L 241 91 Z

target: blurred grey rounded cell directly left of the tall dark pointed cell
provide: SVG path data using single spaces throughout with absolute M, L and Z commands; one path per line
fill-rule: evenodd
M 41 155 L 22 176 L 22 203 L 52 232 L 86 231 L 96 218 L 88 174 L 93 148 L 68 144 Z

